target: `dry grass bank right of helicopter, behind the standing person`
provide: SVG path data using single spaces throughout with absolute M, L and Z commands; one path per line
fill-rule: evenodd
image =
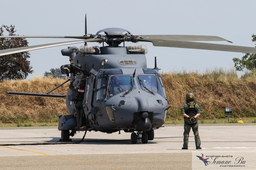
M 193 92 L 201 106 L 203 119 L 224 118 L 225 107 L 232 107 L 232 117 L 256 116 L 256 74 L 238 78 L 235 71 L 214 69 L 204 74 L 162 73 L 170 119 L 180 119 L 180 107 L 185 103 L 185 95 Z

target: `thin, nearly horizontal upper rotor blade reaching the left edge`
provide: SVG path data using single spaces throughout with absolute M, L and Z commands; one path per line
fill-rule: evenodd
M 75 38 L 75 39 L 91 39 L 89 35 L 84 36 L 42 36 L 42 35 L 7 35 L 0 38 Z

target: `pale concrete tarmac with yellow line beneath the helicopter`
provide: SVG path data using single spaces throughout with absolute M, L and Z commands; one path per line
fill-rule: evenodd
M 249 170 L 256 167 L 256 124 L 199 124 L 202 150 L 195 149 L 192 130 L 188 150 L 181 150 L 183 125 L 164 126 L 154 131 L 154 140 L 147 144 L 141 141 L 131 144 L 131 133 L 124 131 L 121 134 L 87 131 L 80 144 L 56 144 L 60 143 L 61 135 L 57 127 L 0 128 L 0 169 Z M 72 142 L 80 141 L 83 136 L 80 131 L 71 137 Z M 201 157 L 208 159 L 204 162 Z

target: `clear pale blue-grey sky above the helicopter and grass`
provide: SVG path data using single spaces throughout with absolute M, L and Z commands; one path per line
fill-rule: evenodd
M 11 0 L 2 1 L 1 25 L 15 25 L 16 35 L 84 35 L 84 17 L 87 14 L 87 33 L 119 27 L 133 35 L 212 35 L 229 42 L 214 42 L 238 46 L 255 47 L 251 41 L 256 34 L 255 0 Z M 5 32 L 7 35 L 7 32 Z M 75 39 L 27 39 L 29 45 Z M 206 69 L 234 68 L 233 58 L 244 54 L 184 48 L 154 47 L 150 42 L 139 42 L 148 47 L 147 67 L 157 67 L 160 72 L 198 71 Z M 73 44 L 77 46 L 83 44 Z M 90 46 L 101 46 L 88 43 Z M 134 43 L 127 43 L 135 45 Z M 69 57 L 61 55 L 61 49 L 68 46 L 52 47 L 30 51 L 34 73 L 43 76 L 51 68 L 69 64 Z

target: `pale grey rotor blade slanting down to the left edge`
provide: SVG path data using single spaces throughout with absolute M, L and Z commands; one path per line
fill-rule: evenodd
M 0 50 L 0 56 L 15 54 L 19 52 L 31 51 L 31 50 L 38 50 L 42 48 L 49 48 L 61 45 L 68 45 L 68 44 L 77 44 L 82 42 L 101 42 L 102 39 L 92 38 L 87 40 L 79 40 L 79 41 L 66 41 L 66 42 L 55 42 L 49 44 L 40 44 L 40 45 L 32 45 L 32 46 L 25 46 L 25 47 L 18 47 L 18 48 L 11 48 L 6 50 Z

